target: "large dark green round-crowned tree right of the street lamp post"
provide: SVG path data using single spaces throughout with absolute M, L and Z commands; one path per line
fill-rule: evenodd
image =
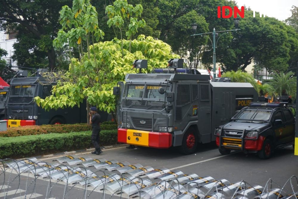
M 262 64 L 271 71 L 286 71 L 292 57 L 297 55 L 291 54 L 297 52 L 297 35 L 288 25 L 275 18 L 254 18 L 252 10 L 245 10 L 239 28 L 237 32 L 223 35 L 218 41 L 216 61 L 223 71 L 245 70 L 252 62 Z M 221 27 L 215 29 L 222 30 Z M 203 63 L 207 66 L 212 64 L 211 49 L 204 51 Z

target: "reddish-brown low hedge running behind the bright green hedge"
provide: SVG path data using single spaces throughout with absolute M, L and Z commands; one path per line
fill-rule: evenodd
M 101 130 L 114 130 L 117 129 L 117 125 L 104 122 L 101 126 Z M 91 126 L 84 124 L 63 124 L 63 125 L 33 125 L 33 126 L 20 126 L 10 127 L 7 131 L 0 131 L 0 137 L 17 137 L 28 135 L 39 135 L 47 133 L 69 133 L 89 131 Z

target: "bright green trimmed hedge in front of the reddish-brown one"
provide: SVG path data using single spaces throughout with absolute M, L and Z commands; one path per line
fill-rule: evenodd
M 100 131 L 100 144 L 117 143 L 117 130 Z M 0 139 L 0 159 L 39 156 L 61 151 L 86 149 L 91 146 L 91 131 L 50 133 Z

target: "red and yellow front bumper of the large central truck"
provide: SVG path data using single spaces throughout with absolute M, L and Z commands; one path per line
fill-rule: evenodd
M 170 148 L 172 134 L 119 128 L 118 142 L 153 148 Z

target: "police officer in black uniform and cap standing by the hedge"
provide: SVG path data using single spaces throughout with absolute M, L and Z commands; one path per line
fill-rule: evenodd
M 96 107 L 91 107 L 90 112 L 90 124 L 92 127 L 91 141 L 95 147 L 95 151 L 91 152 L 92 154 L 99 155 L 103 153 L 99 146 L 99 133 L 100 133 L 100 114 L 97 113 Z

